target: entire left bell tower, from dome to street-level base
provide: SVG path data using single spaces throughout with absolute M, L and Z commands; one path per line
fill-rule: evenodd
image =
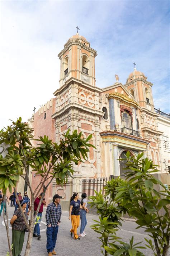
M 95 86 L 95 57 L 97 53 L 90 43 L 79 33 L 70 37 L 64 49 L 58 54 L 60 59 L 60 88 L 55 91 L 56 108 L 52 118 L 55 120 L 56 142 L 68 129 L 82 132 L 84 138 L 92 134 L 88 161 L 74 164 L 74 179 L 63 187 L 68 200 L 72 192 L 79 192 L 81 178 L 96 178 L 101 175 L 99 117 L 99 93 Z M 53 183 L 56 192 L 57 184 Z

